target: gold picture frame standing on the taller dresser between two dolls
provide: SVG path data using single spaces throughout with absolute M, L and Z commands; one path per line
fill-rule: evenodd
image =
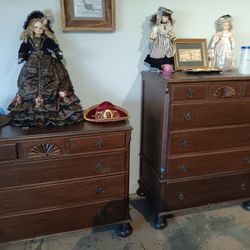
M 208 67 L 207 40 L 182 39 L 174 41 L 176 53 L 174 55 L 175 70 L 204 69 Z

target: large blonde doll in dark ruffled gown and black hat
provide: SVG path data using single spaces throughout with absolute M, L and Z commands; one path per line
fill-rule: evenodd
M 18 77 L 18 92 L 8 109 L 20 127 L 64 126 L 82 121 L 79 98 L 49 21 L 33 11 L 24 23 L 18 63 L 26 61 Z

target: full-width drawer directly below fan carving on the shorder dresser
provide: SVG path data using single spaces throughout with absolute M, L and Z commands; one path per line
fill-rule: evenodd
M 125 171 L 125 152 L 0 164 L 0 188 L 88 178 Z

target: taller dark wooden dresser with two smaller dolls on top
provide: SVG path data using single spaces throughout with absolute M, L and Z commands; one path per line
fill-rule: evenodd
M 250 76 L 142 78 L 137 193 L 156 208 L 154 226 L 164 228 L 180 209 L 249 199 Z

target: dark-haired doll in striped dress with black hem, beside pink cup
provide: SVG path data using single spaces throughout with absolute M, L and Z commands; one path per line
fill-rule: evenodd
M 173 31 L 172 13 L 172 10 L 159 7 L 157 13 L 150 19 L 153 24 L 150 35 L 152 49 L 144 61 L 153 68 L 162 69 L 164 64 L 173 64 L 175 33 Z

